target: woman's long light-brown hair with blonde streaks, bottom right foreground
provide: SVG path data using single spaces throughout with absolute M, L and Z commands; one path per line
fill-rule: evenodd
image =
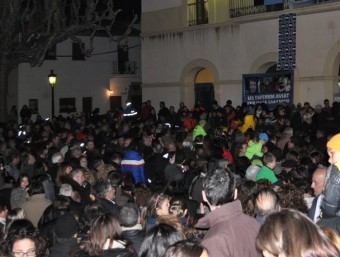
M 284 209 L 267 216 L 256 238 L 265 257 L 336 257 L 340 252 L 307 216 Z

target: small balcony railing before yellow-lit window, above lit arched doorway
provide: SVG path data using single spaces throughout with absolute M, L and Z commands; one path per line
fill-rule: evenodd
M 189 26 L 208 23 L 208 1 L 197 0 L 196 3 L 188 4 Z

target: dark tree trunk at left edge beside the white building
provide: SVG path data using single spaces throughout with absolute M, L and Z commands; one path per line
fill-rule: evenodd
M 7 122 L 7 93 L 8 93 L 8 73 L 9 67 L 7 56 L 0 53 L 0 122 Z

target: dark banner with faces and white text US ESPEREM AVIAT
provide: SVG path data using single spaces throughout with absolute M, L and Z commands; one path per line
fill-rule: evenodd
M 242 77 L 242 101 L 247 104 L 265 103 L 270 109 L 279 103 L 293 104 L 293 89 L 293 71 L 244 74 Z

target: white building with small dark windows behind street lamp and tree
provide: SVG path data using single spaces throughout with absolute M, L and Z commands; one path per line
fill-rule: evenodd
M 84 46 L 86 48 L 86 38 Z M 100 113 L 124 106 L 127 98 L 141 101 L 140 38 L 129 36 L 120 43 L 96 37 L 94 52 L 84 57 L 77 45 L 66 40 L 49 51 L 41 67 L 20 64 L 10 73 L 8 110 L 28 105 L 34 116 L 51 117 L 52 93 L 48 75 L 57 75 L 55 115 Z M 140 98 L 140 100 L 139 100 Z

